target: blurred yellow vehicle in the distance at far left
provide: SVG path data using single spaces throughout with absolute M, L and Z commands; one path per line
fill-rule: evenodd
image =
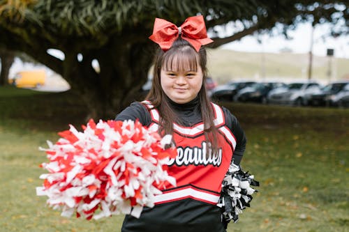
M 10 79 L 10 84 L 19 88 L 35 88 L 45 84 L 46 72 L 45 70 L 31 70 L 17 72 L 13 79 Z

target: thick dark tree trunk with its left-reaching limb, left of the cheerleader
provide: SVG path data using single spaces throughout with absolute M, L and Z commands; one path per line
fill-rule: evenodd
M 126 36 L 108 38 L 102 47 L 89 47 L 82 42 L 59 46 L 64 52 L 61 61 L 47 54 L 48 46 L 42 42 L 38 47 L 23 45 L 21 50 L 33 56 L 61 75 L 78 98 L 87 106 L 94 120 L 114 119 L 131 102 L 140 99 L 140 90 L 147 81 L 154 47 L 147 38 L 140 37 L 142 29 L 133 30 Z M 64 48 L 64 49 L 63 49 Z M 77 55 L 82 54 L 82 59 Z M 96 59 L 100 72 L 91 63 Z

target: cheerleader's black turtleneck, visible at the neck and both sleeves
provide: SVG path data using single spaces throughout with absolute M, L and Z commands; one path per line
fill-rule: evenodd
M 184 104 L 173 102 L 169 98 L 168 100 L 174 113 L 181 119 L 179 122 L 180 124 L 184 126 L 192 126 L 202 121 L 200 100 L 198 97 Z M 232 131 L 232 134 L 234 134 L 235 139 L 237 139 L 237 146 L 234 151 L 234 162 L 235 164 L 239 164 L 246 148 L 245 133 L 237 121 L 237 118 L 232 115 L 228 109 L 224 107 L 222 107 L 222 109 L 225 115 L 225 123 Z M 148 109 L 142 105 L 142 103 L 133 102 L 129 107 L 124 109 L 124 111 L 121 111 L 121 113 L 116 116 L 115 120 L 139 120 L 142 125 L 148 126 L 151 123 L 151 116 Z

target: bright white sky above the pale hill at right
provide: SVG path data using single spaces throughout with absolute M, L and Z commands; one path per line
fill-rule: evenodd
M 329 33 L 329 25 L 315 26 L 313 31 L 313 49 L 316 56 L 327 56 L 327 49 L 334 49 L 334 56 L 349 59 L 349 36 L 323 39 Z M 281 49 L 288 48 L 292 53 L 308 53 L 311 49 L 311 24 L 303 23 L 297 26 L 295 31 L 289 32 L 292 40 L 286 40 L 285 36 L 261 36 L 261 43 L 255 36 L 245 36 L 239 41 L 223 45 L 225 49 L 239 52 L 272 52 L 279 53 Z

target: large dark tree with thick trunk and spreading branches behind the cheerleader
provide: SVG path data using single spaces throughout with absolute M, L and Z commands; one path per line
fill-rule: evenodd
M 181 24 L 205 15 L 218 47 L 276 23 L 284 31 L 312 17 L 314 24 L 346 24 L 348 1 L 296 0 L 0 0 L 0 45 L 34 57 L 59 73 L 84 100 L 91 117 L 112 118 L 135 99 L 147 80 L 154 43 L 148 40 L 155 17 Z M 218 35 L 215 26 L 232 23 L 240 31 Z M 59 49 L 64 60 L 47 53 Z M 77 59 L 80 54 L 82 59 Z M 96 71 L 92 61 L 98 61 Z

